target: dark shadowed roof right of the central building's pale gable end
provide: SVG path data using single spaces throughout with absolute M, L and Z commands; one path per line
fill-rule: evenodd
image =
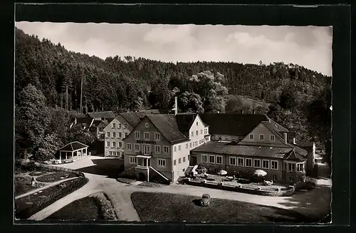
M 268 120 L 261 114 L 235 114 L 235 113 L 199 113 L 205 125 L 209 125 L 212 135 L 236 135 L 245 137 L 253 128 L 263 120 Z

